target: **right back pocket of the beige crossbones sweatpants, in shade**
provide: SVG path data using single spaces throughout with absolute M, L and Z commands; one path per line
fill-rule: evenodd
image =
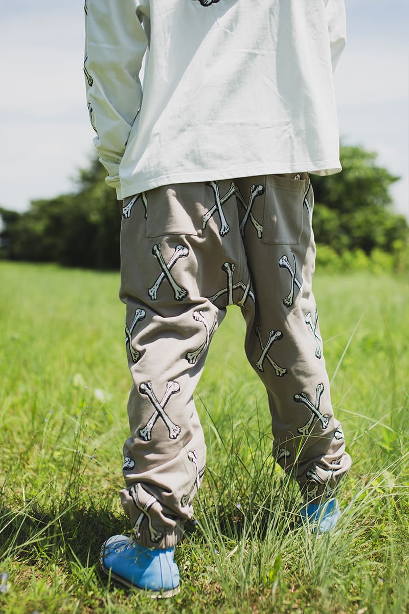
M 264 193 L 262 243 L 298 245 L 304 220 L 307 173 L 268 175 Z

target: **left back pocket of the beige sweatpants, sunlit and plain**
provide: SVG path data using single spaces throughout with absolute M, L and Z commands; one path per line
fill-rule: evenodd
M 147 194 L 147 238 L 202 235 L 205 184 L 163 185 Z

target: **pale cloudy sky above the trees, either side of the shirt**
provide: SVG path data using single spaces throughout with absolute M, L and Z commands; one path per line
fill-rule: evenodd
M 348 43 L 335 71 L 341 138 L 377 152 L 378 165 L 401 177 L 391 193 L 409 219 L 409 2 L 345 5 Z M 2 7 L 0 206 L 24 211 L 75 190 L 93 155 L 83 47 L 83 0 Z

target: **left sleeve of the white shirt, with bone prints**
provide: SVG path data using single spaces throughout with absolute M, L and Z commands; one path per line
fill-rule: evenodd
M 119 166 L 142 102 L 139 72 L 148 40 L 140 0 L 85 0 L 85 88 L 94 146 L 107 184 Z

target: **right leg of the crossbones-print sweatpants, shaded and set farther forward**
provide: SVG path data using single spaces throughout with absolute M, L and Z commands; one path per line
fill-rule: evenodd
M 242 235 L 256 296 L 254 309 L 243 310 L 245 349 L 267 389 L 275 457 L 306 500 L 331 497 L 351 458 L 332 411 L 312 292 L 310 179 L 307 173 L 273 175 L 236 185 L 238 206 L 247 207 Z

